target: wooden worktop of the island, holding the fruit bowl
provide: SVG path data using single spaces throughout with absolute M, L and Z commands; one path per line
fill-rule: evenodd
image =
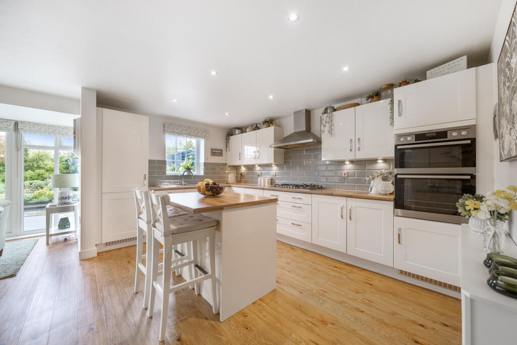
M 181 189 L 181 188 L 180 188 Z M 171 205 L 190 213 L 205 213 L 222 211 L 224 209 L 272 204 L 277 198 L 261 197 L 250 194 L 232 193 L 225 191 L 218 197 L 205 198 L 200 193 L 169 194 Z

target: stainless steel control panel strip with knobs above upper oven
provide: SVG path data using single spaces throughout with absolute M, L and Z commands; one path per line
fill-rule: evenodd
M 445 128 L 443 130 L 428 130 L 421 132 L 413 132 L 406 134 L 397 134 L 395 136 L 395 144 L 410 144 L 419 142 L 432 142 L 444 140 L 457 140 L 476 138 L 475 126 Z

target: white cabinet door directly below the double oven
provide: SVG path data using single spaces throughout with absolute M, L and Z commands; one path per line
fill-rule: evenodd
M 460 286 L 461 225 L 394 217 L 393 238 L 395 268 Z

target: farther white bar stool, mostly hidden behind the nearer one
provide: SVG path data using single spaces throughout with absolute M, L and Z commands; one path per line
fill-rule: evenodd
M 151 265 L 148 264 L 147 259 L 149 254 L 152 252 L 153 241 L 152 236 L 153 230 L 151 229 L 151 205 L 149 199 L 149 190 L 147 189 L 134 189 L 134 201 L 136 206 L 136 268 L 134 276 L 134 292 L 137 293 L 140 285 L 140 272 L 144 274 L 145 286 L 144 286 L 144 304 L 143 308 L 147 308 L 149 304 L 149 292 L 151 289 Z M 185 216 L 188 213 L 178 209 L 171 208 L 167 211 L 169 217 Z M 144 234 L 147 236 L 146 254 L 143 252 Z M 162 253 L 163 249 L 160 249 L 159 253 Z M 145 260 L 145 266 L 142 260 Z

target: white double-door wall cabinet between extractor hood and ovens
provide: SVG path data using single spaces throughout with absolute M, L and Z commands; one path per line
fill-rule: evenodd
M 388 115 L 388 100 L 334 112 L 333 136 L 322 134 L 322 159 L 393 157 L 394 134 Z

